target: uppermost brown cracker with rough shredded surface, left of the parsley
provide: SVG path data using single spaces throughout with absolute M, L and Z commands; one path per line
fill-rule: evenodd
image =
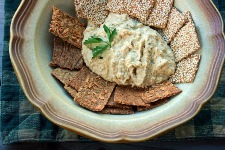
M 53 7 L 52 21 L 49 31 L 72 45 L 82 48 L 85 28 L 77 19 Z

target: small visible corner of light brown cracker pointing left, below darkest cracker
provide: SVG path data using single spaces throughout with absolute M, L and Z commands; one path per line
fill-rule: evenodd
M 54 69 L 51 74 L 58 79 L 60 82 L 63 84 L 67 84 L 69 79 L 71 79 L 73 76 L 77 74 L 77 71 L 71 71 L 67 69 L 62 69 L 62 68 L 56 68 Z

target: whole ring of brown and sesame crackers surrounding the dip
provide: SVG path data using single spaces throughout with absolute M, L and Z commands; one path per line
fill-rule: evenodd
M 160 106 L 182 92 L 177 83 L 194 81 L 200 54 L 195 24 L 189 11 L 180 12 L 174 0 L 75 0 L 76 19 L 53 7 L 49 31 L 56 37 L 50 66 L 74 101 L 86 109 L 103 114 L 133 114 Z M 104 23 L 109 12 L 126 13 L 158 31 L 172 48 L 177 68 L 168 81 L 137 88 L 108 82 L 84 64 L 81 49 L 85 25 Z

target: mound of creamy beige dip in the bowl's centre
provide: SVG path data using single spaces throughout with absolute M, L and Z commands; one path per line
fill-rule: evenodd
M 84 61 L 93 72 L 107 81 L 137 87 L 161 83 L 174 74 L 173 52 L 157 31 L 127 14 L 110 13 L 104 24 L 111 31 L 117 29 L 111 48 L 92 59 L 92 50 L 82 45 Z M 89 22 L 83 42 L 91 36 L 108 40 L 103 25 Z

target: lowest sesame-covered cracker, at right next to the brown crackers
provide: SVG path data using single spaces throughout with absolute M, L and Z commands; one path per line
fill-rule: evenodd
M 200 54 L 193 54 L 177 64 L 175 74 L 170 77 L 172 83 L 191 83 L 194 81 L 200 62 Z

